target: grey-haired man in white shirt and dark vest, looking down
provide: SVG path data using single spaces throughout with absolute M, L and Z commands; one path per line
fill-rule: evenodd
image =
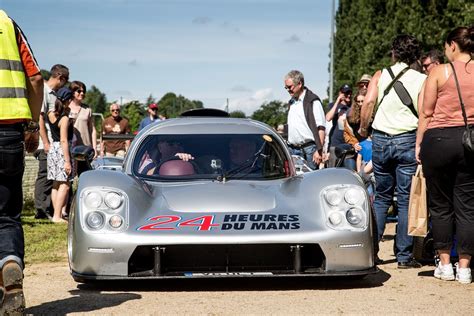
M 292 70 L 285 76 L 285 89 L 291 96 L 288 111 L 288 145 L 293 155 L 304 158 L 316 170 L 321 163 L 325 116 L 319 97 L 304 85 L 304 76 Z

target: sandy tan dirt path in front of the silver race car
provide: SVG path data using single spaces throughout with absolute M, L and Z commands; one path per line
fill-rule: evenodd
M 393 231 L 393 224 L 388 233 Z M 398 270 L 388 263 L 364 280 L 334 278 L 160 280 L 77 284 L 67 263 L 25 271 L 29 314 L 472 314 L 474 283 L 439 281 L 433 266 Z

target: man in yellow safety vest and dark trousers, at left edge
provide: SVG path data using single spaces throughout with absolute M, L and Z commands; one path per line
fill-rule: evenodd
M 23 32 L 0 10 L 0 315 L 22 314 L 24 132 L 37 130 L 40 68 Z

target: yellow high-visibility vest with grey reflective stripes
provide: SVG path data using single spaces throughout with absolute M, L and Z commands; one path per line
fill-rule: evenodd
M 0 120 L 31 119 L 15 28 L 0 10 Z

